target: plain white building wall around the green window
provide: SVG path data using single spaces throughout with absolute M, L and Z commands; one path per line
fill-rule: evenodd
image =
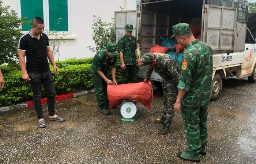
M 18 0 L 4 0 L 3 5 L 10 5 L 18 12 Z M 110 22 L 114 17 L 114 11 L 135 10 L 136 0 L 71 0 L 71 33 L 75 39 L 67 39 L 60 46 L 60 60 L 65 58 L 87 58 L 93 57 L 94 52 L 89 51 L 88 46 L 94 47 L 91 37 L 93 30 L 93 15 L 101 17 L 103 22 Z M 66 34 L 69 36 L 69 34 Z M 57 57 L 55 57 L 57 60 Z

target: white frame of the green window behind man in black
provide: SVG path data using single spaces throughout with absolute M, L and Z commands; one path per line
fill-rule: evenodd
M 50 29 L 50 18 L 49 18 L 49 0 L 43 1 L 43 15 L 45 22 L 45 30 Z M 20 0 L 17 0 L 18 3 L 18 16 L 21 17 L 21 4 Z M 68 3 L 68 31 L 58 31 L 58 34 L 71 34 L 71 0 L 67 0 Z M 23 31 L 27 33 L 28 31 Z

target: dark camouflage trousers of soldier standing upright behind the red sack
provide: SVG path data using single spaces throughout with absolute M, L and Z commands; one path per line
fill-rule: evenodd
M 125 70 L 122 69 L 121 73 L 123 76 L 123 84 L 127 84 L 129 79 L 132 83 L 138 82 L 138 70 L 136 65 L 126 65 Z

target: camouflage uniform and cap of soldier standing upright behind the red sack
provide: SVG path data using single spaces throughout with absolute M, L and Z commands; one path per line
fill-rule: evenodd
M 125 30 L 132 31 L 133 26 L 127 24 Z M 119 52 L 122 51 L 124 54 L 124 63 L 126 69 L 122 69 L 121 73 L 123 76 L 123 84 L 128 83 L 129 79 L 132 83 L 138 82 L 138 70 L 136 66 L 136 56 L 135 50 L 137 49 L 136 38 L 131 36 L 131 40 L 127 35 L 124 35 L 120 40 L 118 40 Z

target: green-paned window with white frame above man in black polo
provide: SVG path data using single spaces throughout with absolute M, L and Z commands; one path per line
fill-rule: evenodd
M 27 17 L 28 21 L 34 17 L 41 17 L 45 22 L 45 29 L 61 31 L 70 34 L 70 0 L 18 0 L 19 17 Z M 58 19 L 60 24 L 57 26 Z M 22 26 L 23 31 L 29 31 L 28 26 Z

